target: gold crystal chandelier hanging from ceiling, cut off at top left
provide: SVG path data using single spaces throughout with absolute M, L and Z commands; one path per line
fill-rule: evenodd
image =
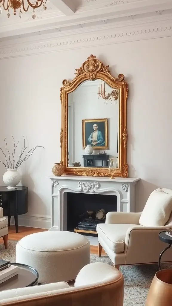
M 20 9 L 20 18 L 21 14 L 23 12 L 27 12 L 29 7 L 33 9 L 33 15 L 32 18 L 36 18 L 35 9 L 43 5 L 43 9 L 46 10 L 47 0 L 36 0 L 33 2 L 30 2 L 29 0 L 0 0 L 0 14 L 2 13 L 2 8 L 5 9 L 5 11 L 8 11 L 7 16 L 10 17 L 9 9 L 13 9 L 14 15 L 16 15 L 16 10 Z M 2 6 L 2 8 L 1 8 Z

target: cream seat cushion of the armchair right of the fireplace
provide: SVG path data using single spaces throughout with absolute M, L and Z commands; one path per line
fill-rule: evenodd
M 97 225 L 97 233 L 107 244 L 111 251 L 115 253 L 124 252 L 125 236 L 129 227 L 139 226 L 138 224 L 107 224 Z M 139 226 L 142 227 L 142 226 Z

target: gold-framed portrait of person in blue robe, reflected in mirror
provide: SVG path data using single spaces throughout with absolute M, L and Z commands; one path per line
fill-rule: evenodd
M 92 144 L 94 149 L 108 149 L 107 118 L 82 120 L 83 149 Z

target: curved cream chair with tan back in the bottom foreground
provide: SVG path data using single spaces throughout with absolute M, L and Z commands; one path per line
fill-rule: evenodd
M 75 286 L 66 282 L 11 289 L 0 292 L 0 305 L 17 306 L 123 306 L 124 278 L 106 263 L 83 267 Z

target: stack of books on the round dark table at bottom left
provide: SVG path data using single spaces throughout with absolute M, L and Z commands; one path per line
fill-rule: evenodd
M 0 284 L 17 274 L 17 266 L 11 265 L 8 260 L 0 259 Z

